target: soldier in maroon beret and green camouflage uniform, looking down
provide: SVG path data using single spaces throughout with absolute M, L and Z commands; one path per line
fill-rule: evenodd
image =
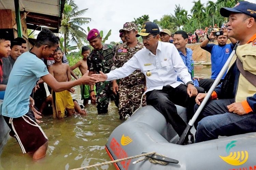
M 89 76 L 94 72 L 109 73 L 113 65 L 113 58 L 115 54 L 115 46 L 111 44 L 102 44 L 99 31 L 92 29 L 87 36 L 87 40 L 94 48 L 88 57 L 88 70 Z M 108 106 L 110 97 L 113 95 L 112 82 L 99 82 L 97 85 L 97 110 L 98 114 L 108 113 Z M 93 86 L 90 86 L 90 97 L 92 103 L 96 100 L 96 94 L 93 90 Z M 115 97 L 114 97 L 115 100 Z M 118 107 L 118 101 L 115 100 L 115 104 Z

